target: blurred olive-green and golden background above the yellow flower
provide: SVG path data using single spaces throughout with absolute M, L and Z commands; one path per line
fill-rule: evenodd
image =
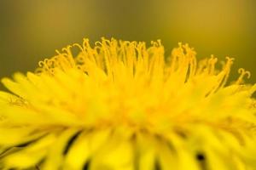
M 1 0 L 0 77 L 33 71 L 73 42 L 161 39 L 169 54 L 188 42 L 198 58 L 236 58 L 256 82 L 255 0 Z

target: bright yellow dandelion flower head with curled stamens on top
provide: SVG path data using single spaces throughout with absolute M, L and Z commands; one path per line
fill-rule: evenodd
M 233 59 L 216 63 L 181 43 L 63 48 L 3 78 L 0 169 L 256 169 L 256 85 L 243 69 L 226 85 Z

